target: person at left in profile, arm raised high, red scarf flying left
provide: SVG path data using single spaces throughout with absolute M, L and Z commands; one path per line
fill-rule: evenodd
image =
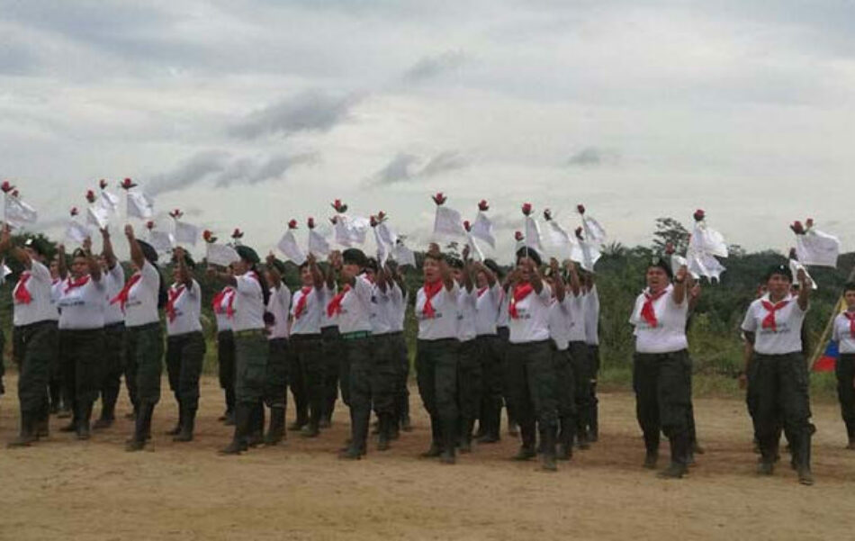
M 142 450 L 151 438 L 151 418 L 160 401 L 164 343 L 158 309 L 166 302 L 166 284 L 157 268 L 157 250 L 137 239 L 130 225 L 125 226 L 125 237 L 134 273 L 110 302 L 124 311 L 128 332 L 126 374 L 137 403 L 133 436 L 125 449 L 133 452 Z

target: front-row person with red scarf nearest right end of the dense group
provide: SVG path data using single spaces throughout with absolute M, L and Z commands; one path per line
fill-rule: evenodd
M 540 254 L 519 248 L 517 268 L 510 276 L 510 344 L 505 357 L 509 408 L 519 423 L 522 446 L 514 460 L 536 456 L 536 427 L 542 441 L 541 467 L 555 471 L 558 430 L 556 377 L 549 338 L 552 290 L 540 275 Z

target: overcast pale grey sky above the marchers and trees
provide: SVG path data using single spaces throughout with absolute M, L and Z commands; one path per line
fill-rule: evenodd
M 491 203 L 500 259 L 525 202 L 627 246 L 703 208 L 852 250 L 853 31 L 844 0 L 0 0 L 0 177 L 56 238 L 130 176 L 158 227 L 265 252 L 336 198 L 423 248 L 439 191 Z

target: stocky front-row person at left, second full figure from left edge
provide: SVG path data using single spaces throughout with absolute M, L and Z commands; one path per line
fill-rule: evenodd
M 92 255 L 91 239 L 85 239 L 83 248 L 74 251 L 70 269 L 65 265 L 65 247 L 59 245 L 58 251 L 59 275 L 63 278 L 57 300 L 62 340 L 59 364 L 73 409 L 71 423 L 60 430 L 76 432 L 77 439 L 89 439 L 92 406 L 101 390 L 103 373 L 106 289 L 101 265 Z

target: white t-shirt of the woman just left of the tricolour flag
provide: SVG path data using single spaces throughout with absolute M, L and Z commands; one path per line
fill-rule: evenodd
M 745 312 L 743 330 L 754 333 L 754 351 L 763 355 L 784 355 L 802 351 L 802 323 L 806 310 L 798 306 L 797 298 L 787 295 L 787 305 L 775 311 L 775 328 L 763 328 L 769 311 L 763 301 L 770 302 L 769 293 L 752 302 Z

